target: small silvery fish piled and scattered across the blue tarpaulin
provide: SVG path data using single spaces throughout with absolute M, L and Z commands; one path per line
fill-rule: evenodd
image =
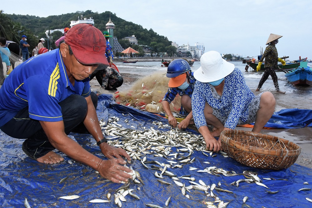
M 155 171 L 154 176 L 157 181 L 166 185 L 177 185 L 181 188 L 181 193 L 183 196 L 190 198 L 192 193 L 190 190 L 202 191 L 204 195 L 212 197 L 212 201 L 202 201 L 207 207 L 217 207 L 223 208 L 227 207 L 229 202 L 223 202 L 218 196 L 216 196 L 216 191 L 224 191 L 228 193 L 233 193 L 232 191 L 222 189 L 221 182 L 217 184 L 206 185 L 202 180 L 198 180 L 191 175 L 177 176 L 170 172 L 170 168 L 183 168 L 186 164 L 193 163 L 196 158 L 192 157 L 193 151 L 201 151 L 205 157 L 215 157 L 216 153 L 206 150 L 206 144 L 202 135 L 192 134 L 178 128 L 171 128 L 168 124 L 163 124 L 162 122 L 153 122 L 155 127 L 150 127 L 149 129 L 145 126 L 141 126 L 141 130 L 123 128 L 118 117 L 110 117 L 108 123 L 105 124 L 100 121 L 101 125 L 106 125 L 102 127 L 103 133 L 108 137 L 110 145 L 115 147 L 121 147 L 127 151 L 133 160 L 139 160 L 144 168 Z M 122 122 L 122 121 L 121 121 Z M 124 123 L 128 123 L 127 119 Z M 130 125 L 130 124 L 128 124 Z M 169 129 L 170 128 L 170 129 Z M 166 129 L 169 129 L 166 131 Z M 175 147 L 176 151 L 172 148 Z M 154 158 L 163 157 L 166 159 L 166 163 L 160 163 L 157 159 L 148 160 L 146 155 L 152 154 Z M 223 157 L 228 157 L 228 155 L 222 151 Z M 149 157 L 150 158 L 150 157 Z M 204 162 L 209 164 L 209 162 Z M 189 170 L 209 173 L 215 176 L 237 176 L 243 175 L 246 179 L 240 179 L 235 181 L 233 185 L 239 186 L 240 182 L 256 183 L 257 185 L 266 187 L 261 183 L 261 179 L 256 173 L 244 171 L 241 174 L 235 173 L 234 171 L 227 171 L 222 168 L 217 168 L 215 166 L 207 167 L 203 170 L 196 167 L 189 167 Z M 172 181 L 165 180 L 165 176 L 171 178 Z M 189 185 L 185 185 L 185 181 L 189 182 Z M 266 187 L 267 188 L 267 187 Z M 247 197 L 248 198 L 248 197 Z M 246 202 L 247 198 L 243 199 L 243 203 Z M 171 196 L 166 201 L 165 205 L 168 206 L 171 200 Z M 214 205 L 218 203 L 217 205 Z M 150 207 L 159 207 L 157 205 L 147 205 Z

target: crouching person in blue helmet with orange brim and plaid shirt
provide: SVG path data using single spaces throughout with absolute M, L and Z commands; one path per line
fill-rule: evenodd
M 177 126 L 177 119 L 173 116 L 169 104 L 177 94 L 181 96 L 180 114 L 187 115 L 178 125 L 179 129 L 186 129 L 193 118 L 191 98 L 196 79 L 191 72 L 191 67 L 184 59 L 175 59 L 170 62 L 166 76 L 170 78 L 168 92 L 161 102 L 163 110 L 168 116 L 168 122 L 174 128 Z

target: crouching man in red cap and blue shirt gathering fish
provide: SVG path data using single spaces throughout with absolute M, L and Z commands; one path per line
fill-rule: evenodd
M 95 111 L 97 96 L 89 84 L 98 64 L 108 64 L 105 49 L 100 30 L 78 24 L 68 31 L 59 49 L 20 64 L 0 88 L 0 129 L 26 139 L 23 151 L 40 163 L 63 161 L 53 151 L 58 149 L 120 183 L 131 178 L 124 172 L 131 170 L 122 166 L 126 161 L 121 156 L 130 157 L 124 149 L 107 144 Z M 89 153 L 67 136 L 81 122 L 109 160 Z

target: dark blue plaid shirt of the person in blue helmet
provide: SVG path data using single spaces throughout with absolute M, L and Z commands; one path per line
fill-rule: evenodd
M 187 94 L 188 96 L 192 97 L 195 81 L 196 79 L 194 78 L 194 75 L 192 72 L 190 74 L 190 83 L 189 83 L 190 85 L 184 90 L 181 90 L 178 87 L 169 87 L 168 92 L 165 94 L 165 97 L 163 98 L 163 101 L 165 100 L 171 103 L 177 94 L 179 94 L 180 96 Z M 188 114 L 188 112 L 183 109 L 182 105 L 181 105 L 180 114 L 182 115 Z

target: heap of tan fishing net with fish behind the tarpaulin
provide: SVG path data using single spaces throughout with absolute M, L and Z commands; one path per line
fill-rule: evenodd
M 129 91 L 117 92 L 114 95 L 116 103 L 132 106 L 142 111 L 146 110 L 148 104 L 153 104 L 157 112 L 163 113 L 161 102 L 168 91 L 169 79 L 163 71 L 140 78 L 132 85 Z M 180 111 L 181 97 L 179 94 L 177 94 L 169 106 L 172 112 L 178 113 Z

